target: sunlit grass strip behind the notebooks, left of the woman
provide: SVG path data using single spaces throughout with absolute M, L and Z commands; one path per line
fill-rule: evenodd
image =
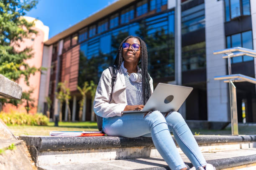
M 51 131 L 84 131 L 98 130 L 97 122 L 59 122 L 59 127 L 54 127 L 54 122 L 49 122 L 48 126 L 30 125 L 8 125 L 15 136 L 20 135 L 47 135 Z

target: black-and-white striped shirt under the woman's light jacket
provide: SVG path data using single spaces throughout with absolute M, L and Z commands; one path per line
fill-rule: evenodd
M 124 67 L 123 63 L 121 66 L 123 70 L 123 75 L 125 77 L 125 91 L 126 100 L 128 105 L 143 105 L 143 95 L 142 95 L 142 83 L 133 82 L 130 80 L 127 69 Z

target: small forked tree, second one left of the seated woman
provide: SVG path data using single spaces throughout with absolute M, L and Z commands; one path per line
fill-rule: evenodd
M 93 81 L 91 81 L 93 82 Z M 86 81 L 84 82 L 84 86 L 81 88 L 79 86 L 77 86 L 77 89 L 79 90 L 79 92 L 82 95 L 82 100 L 79 101 L 79 121 L 82 120 L 82 113 L 83 113 L 83 109 L 84 112 L 86 112 L 86 93 L 89 92 L 91 90 L 91 86 L 89 85 L 89 83 Z

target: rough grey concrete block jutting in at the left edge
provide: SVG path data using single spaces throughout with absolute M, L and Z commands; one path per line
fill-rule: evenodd
M 0 98 L 20 99 L 21 95 L 21 86 L 0 74 Z

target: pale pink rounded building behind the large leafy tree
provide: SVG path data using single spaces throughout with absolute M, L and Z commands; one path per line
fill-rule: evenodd
M 37 31 L 36 35 L 31 35 L 30 38 L 23 39 L 22 42 L 19 43 L 19 47 L 15 46 L 16 50 L 24 50 L 26 47 L 32 47 L 33 49 L 33 57 L 26 60 L 26 63 L 30 67 L 34 66 L 36 68 L 40 68 L 42 66 L 42 59 L 43 59 L 43 49 L 44 49 L 44 42 L 48 40 L 49 37 L 49 27 L 44 25 L 40 20 L 37 20 L 36 18 L 27 17 L 24 16 L 28 22 L 32 23 L 34 22 L 34 26 L 32 29 Z M 34 107 L 31 107 L 31 110 L 29 113 L 36 113 L 38 108 L 38 98 L 39 98 L 39 86 L 40 86 L 40 77 L 41 72 L 36 72 L 35 75 L 31 75 L 29 77 L 29 86 L 26 85 L 26 82 L 24 82 L 24 78 L 21 77 L 18 80 L 18 84 L 22 87 L 23 92 L 28 92 L 29 90 L 33 90 L 31 93 L 31 98 L 35 101 L 33 102 Z M 22 105 L 18 105 L 18 107 L 11 105 L 11 104 L 5 104 L 3 106 L 4 112 L 10 112 L 10 110 L 17 110 L 19 112 L 26 112 L 25 109 L 25 103 Z

